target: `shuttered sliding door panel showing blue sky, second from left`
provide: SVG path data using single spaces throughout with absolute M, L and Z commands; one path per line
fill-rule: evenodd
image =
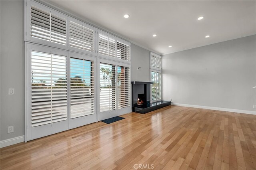
M 96 122 L 94 60 L 70 53 L 70 128 Z

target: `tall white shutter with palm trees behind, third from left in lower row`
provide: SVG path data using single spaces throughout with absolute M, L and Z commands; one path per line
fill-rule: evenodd
M 100 63 L 100 112 L 116 110 L 116 66 Z

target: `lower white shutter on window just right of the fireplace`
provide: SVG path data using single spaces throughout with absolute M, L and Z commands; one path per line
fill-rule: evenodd
M 161 73 L 151 71 L 151 101 L 160 101 L 162 99 L 162 80 Z

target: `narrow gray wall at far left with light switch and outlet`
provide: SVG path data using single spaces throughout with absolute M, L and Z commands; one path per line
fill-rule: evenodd
M 24 135 L 24 1 L 1 3 L 1 135 L 0 140 Z M 8 95 L 8 88 L 15 95 Z M 14 125 L 14 132 L 7 127 Z

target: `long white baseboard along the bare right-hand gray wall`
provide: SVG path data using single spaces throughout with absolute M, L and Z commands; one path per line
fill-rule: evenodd
M 222 108 L 222 107 L 187 105 L 187 104 L 180 104 L 180 103 L 171 103 L 171 105 L 174 105 L 174 106 L 184 106 L 184 107 L 194 107 L 194 108 L 209 109 L 209 110 L 216 110 L 216 111 L 246 113 L 246 114 L 250 114 L 250 115 L 256 115 L 256 111 L 246 111 L 246 110 L 238 110 L 238 109 L 227 109 L 227 108 Z

